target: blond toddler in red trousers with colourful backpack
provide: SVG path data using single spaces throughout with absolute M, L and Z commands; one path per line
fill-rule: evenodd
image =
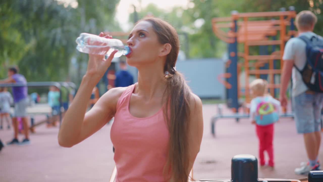
M 274 169 L 274 123 L 279 119 L 280 102 L 268 93 L 268 83 L 263 79 L 256 79 L 250 84 L 253 99 L 250 104 L 250 118 L 256 125 L 259 139 L 260 167 L 266 165 L 264 152 L 267 151 L 268 165 Z

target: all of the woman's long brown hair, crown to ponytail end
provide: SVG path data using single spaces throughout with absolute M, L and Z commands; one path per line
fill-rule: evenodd
M 170 132 L 168 159 L 164 167 L 164 174 L 172 177 L 176 182 L 187 182 L 190 172 L 188 171 L 188 127 L 191 90 L 182 74 L 176 71 L 175 68 L 180 41 L 175 28 L 166 21 L 155 17 L 146 17 L 141 21 L 151 23 L 161 44 L 169 43 L 172 46 L 164 65 L 164 72 L 167 72 L 165 76 L 167 88 L 164 98 L 167 98 L 166 106 L 170 107 L 165 107 L 164 109 Z

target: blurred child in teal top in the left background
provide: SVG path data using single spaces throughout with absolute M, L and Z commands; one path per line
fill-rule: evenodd
M 48 92 L 48 105 L 52 107 L 52 119 L 47 123 L 47 127 L 50 127 L 50 123 L 56 126 L 56 121 L 58 119 L 58 114 L 60 113 L 60 103 L 59 103 L 59 89 L 56 86 L 50 86 Z

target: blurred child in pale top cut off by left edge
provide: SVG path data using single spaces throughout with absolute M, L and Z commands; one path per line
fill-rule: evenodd
M 3 129 L 3 120 L 7 121 L 8 129 L 10 129 L 11 117 L 10 117 L 10 104 L 14 99 L 10 92 L 5 87 L 0 87 L 0 129 Z

